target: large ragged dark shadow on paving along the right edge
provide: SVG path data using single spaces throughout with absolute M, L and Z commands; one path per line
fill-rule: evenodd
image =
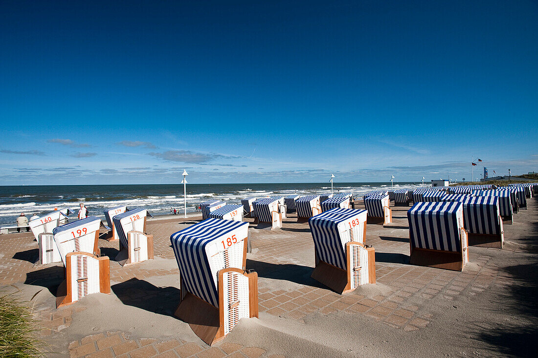
M 532 232 L 538 233 L 538 222 L 532 226 Z M 522 238 L 522 244 L 529 249 L 535 249 L 537 243 L 536 234 Z M 538 305 L 535 304 L 538 297 L 538 258 L 533 256 L 529 261 L 530 263 L 501 268 L 512 276 L 512 279 L 507 278 L 512 280 L 512 284 L 499 294 L 502 303 L 500 309 L 512 319 L 482 327 L 477 338 L 496 348 L 492 354 L 535 355 L 532 352 L 536 352 L 538 341 Z M 495 308 L 498 309 L 498 306 Z

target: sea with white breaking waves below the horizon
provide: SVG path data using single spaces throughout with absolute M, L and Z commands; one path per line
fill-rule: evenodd
M 395 189 L 413 188 L 420 183 L 399 182 Z M 390 183 L 342 182 L 335 183 L 333 192 L 352 192 L 362 196 Z M 274 183 L 274 184 L 187 184 L 187 213 L 196 211 L 203 201 L 218 199 L 241 203 L 241 199 L 254 196 L 322 194 L 330 193 L 328 183 Z M 54 208 L 71 208 L 76 212 L 83 202 L 90 215 L 104 217 L 103 210 L 127 206 L 143 207 L 152 215 L 171 214 L 173 209 L 183 213 L 183 185 L 25 185 L 0 186 L 0 224 L 15 224 L 17 216 L 30 217 L 52 212 Z

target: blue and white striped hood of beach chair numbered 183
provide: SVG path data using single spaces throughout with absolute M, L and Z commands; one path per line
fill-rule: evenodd
M 321 261 L 346 270 L 345 243 L 339 234 L 338 224 L 357 216 L 366 210 L 335 208 L 308 219 L 317 257 Z

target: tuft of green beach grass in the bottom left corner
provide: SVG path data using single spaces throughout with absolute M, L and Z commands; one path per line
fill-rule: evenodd
M 0 356 L 44 356 L 32 310 L 13 293 L 0 292 Z

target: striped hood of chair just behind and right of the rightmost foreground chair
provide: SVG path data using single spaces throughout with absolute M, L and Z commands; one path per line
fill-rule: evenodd
M 499 198 L 469 196 L 462 201 L 463 225 L 472 234 L 500 234 Z

